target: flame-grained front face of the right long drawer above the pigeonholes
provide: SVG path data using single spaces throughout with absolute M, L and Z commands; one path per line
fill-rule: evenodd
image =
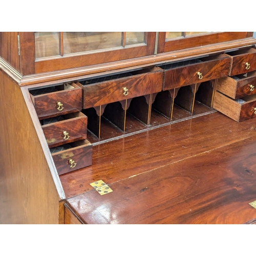
M 164 72 L 163 90 L 170 90 L 227 76 L 230 58 L 209 60 L 195 65 L 166 70 Z M 200 75 L 201 74 L 201 75 Z

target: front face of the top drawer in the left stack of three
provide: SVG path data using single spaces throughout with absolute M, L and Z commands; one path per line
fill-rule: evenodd
M 82 89 L 77 87 L 72 90 L 34 96 L 33 102 L 39 119 L 81 111 Z

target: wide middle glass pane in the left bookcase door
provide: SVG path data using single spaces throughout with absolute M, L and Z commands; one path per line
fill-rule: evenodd
M 63 32 L 64 54 L 121 46 L 122 32 Z

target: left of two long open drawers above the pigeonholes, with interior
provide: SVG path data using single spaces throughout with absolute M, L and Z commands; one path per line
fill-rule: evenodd
M 152 68 L 80 81 L 83 109 L 160 92 L 162 80 L 163 71 Z

